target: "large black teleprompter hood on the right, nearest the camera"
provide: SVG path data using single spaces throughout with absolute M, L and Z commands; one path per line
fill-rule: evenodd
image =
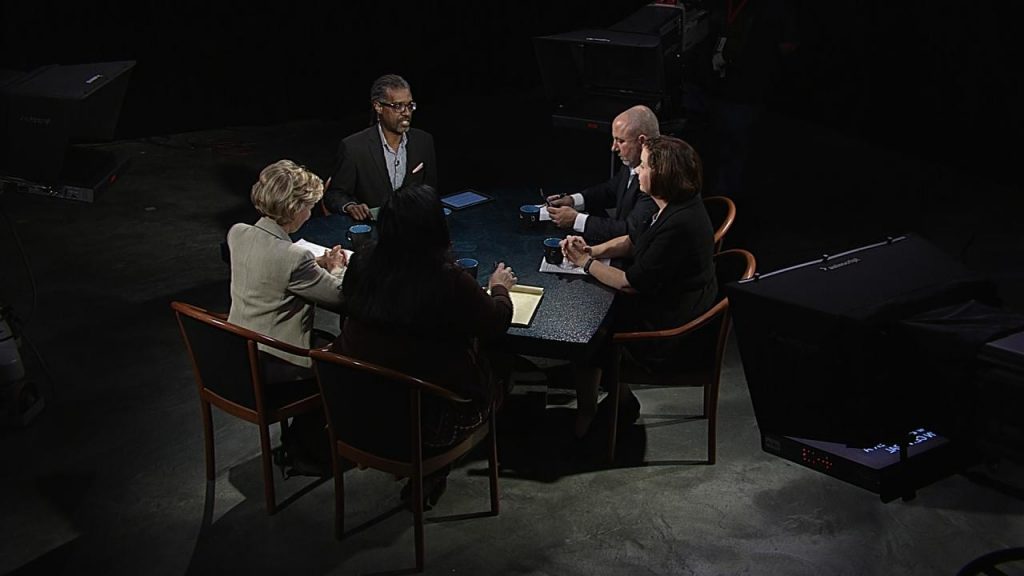
M 914 377 L 919 355 L 900 321 L 969 300 L 996 303 L 990 281 L 914 236 L 726 290 L 762 434 L 850 446 L 931 425 L 933 400 L 945 397 Z

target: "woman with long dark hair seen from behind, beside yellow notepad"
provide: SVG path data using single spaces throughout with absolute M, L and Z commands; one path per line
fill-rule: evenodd
M 443 409 L 424 403 L 424 446 L 451 446 L 486 421 L 492 400 L 503 392 L 479 342 L 508 330 L 515 275 L 498 264 L 488 294 L 455 264 L 440 201 L 428 186 L 395 191 L 378 220 L 376 245 L 356 252 L 345 273 L 348 317 L 334 349 L 471 399 Z M 389 446 L 408 441 L 380 439 Z M 430 503 L 444 490 L 446 475 L 424 479 Z

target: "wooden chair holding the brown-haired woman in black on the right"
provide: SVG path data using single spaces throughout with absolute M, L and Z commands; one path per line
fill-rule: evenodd
M 651 373 L 639 367 L 624 362 L 620 368 L 618 381 L 654 384 L 668 386 L 700 386 L 703 388 L 703 413 L 701 418 L 708 419 L 708 463 L 715 463 L 716 428 L 718 418 L 718 389 L 722 376 L 722 360 L 725 357 L 725 344 L 729 338 L 729 298 L 725 297 L 725 285 L 737 280 L 754 277 L 757 262 L 754 254 L 746 250 L 731 249 L 715 254 L 715 274 L 718 277 L 718 301 L 702 315 L 682 326 L 669 330 L 648 332 L 618 332 L 612 337 L 616 345 L 629 342 L 664 340 L 668 338 L 686 338 L 692 349 L 702 351 L 695 355 L 692 364 L 684 371 L 672 373 Z M 614 387 L 614 386 L 613 386 Z M 615 455 L 615 428 L 618 414 L 618 390 L 611 390 L 612 422 L 609 431 L 609 461 Z

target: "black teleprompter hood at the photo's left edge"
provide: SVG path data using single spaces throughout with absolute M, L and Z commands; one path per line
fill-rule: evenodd
M 0 176 L 13 188 L 92 202 L 124 162 L 82 146 L 114 137 L 135 61 L 39 68 L 0 87 Z

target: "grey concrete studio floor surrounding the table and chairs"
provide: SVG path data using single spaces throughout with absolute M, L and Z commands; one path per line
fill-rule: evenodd
M 1024 310 L 1019 191 L 879 150 L 872 162 L 887 168 L 854 178 L 866 145 L 784 128 L 785 152 L 759 164 L 761 195 L 739 202 L 727 247 L 751 249 L 767 271 L 882 233 L 919 232 L 991 274 L 1007 305 Z M 332 483 L 267 517 L 256 431 L 218 415 L 218 475 L 206 484 L 195 383 L 168 306 L 224 308 L 228 271 L 218 246 L 231 223 L 254 219 L 248 190 L 259 169 L 283 157 L 323 169 L 347 131 L 310 122 L 114 142 L 105 148 L 131 163 L 92 204 L 0 197 L 9 218 L 0 227 L 0 288 L 26 327 L 30 377 L 47 393 L 31 425 L 0 431 L 0 573 L 413 566 L 412 519 L 399 508 L 400 484 L 385 475 L 346 474 L 355 531 L 338 542 Z M 502 176 L 493 175 L 495 186 Z M 912 500 L 884 503 L 763 452 L 735 342 L 716 465 L 697 462 L 703 422 L 680 417 L 697 410 L 694 390 L 638 395 L 641 425 L 626 433 L 611 467 L 561 457 L 571 421 L 556 406 L 563 393 L 551 390 L 548 410 L 518 395 L 502 415 L 501 515 L 429 524 L 427 573 L 937 575 L 1024 545 L 1024 466 L 1013 458 L 989 457 Z M 428 517 L 485 509 L 484 470 L 484 460 L 464 462 Z M 279 477 L 279 498 L 308 485 Z M 1024 562 L 1002 568 L 1024 574 Z

